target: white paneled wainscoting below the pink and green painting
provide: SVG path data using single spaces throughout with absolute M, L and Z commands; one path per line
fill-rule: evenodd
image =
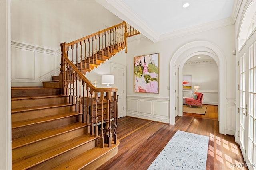
M 127 116 L 169 123 L 169 97 L 128 95 Z

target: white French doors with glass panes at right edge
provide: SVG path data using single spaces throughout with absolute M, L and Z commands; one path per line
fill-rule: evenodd
M 248 39 L 240 56 L 239 145 L 249 169 L 256 169 L 256 33 Z M 253 166 L 254 165 L 254 166 Z

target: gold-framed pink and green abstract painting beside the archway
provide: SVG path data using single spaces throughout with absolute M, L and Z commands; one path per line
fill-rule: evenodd
M 159 53 L 134 57 L 134 92 L 159 93 Z

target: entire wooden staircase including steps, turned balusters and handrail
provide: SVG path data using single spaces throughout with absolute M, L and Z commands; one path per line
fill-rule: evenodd
M 84 74 L 123 50 L 128 30 L 123 22 L 62 43 L 60 76 L 43 87 L 12 87 L 13 170 L 96 169 L 118 152 L 117 89 L 95 88 Z

